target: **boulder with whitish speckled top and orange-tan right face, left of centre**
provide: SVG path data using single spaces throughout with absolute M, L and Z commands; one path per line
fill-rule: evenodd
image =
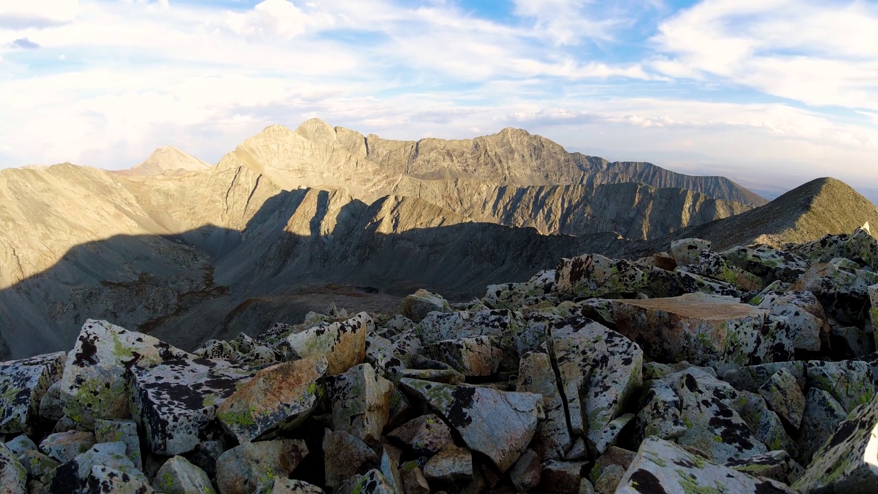
M 372 331 L 375 331 L 375 323 L 361 312 L 344 322 L 292 333 L 286 342 L 299 359 L 326 356 L 327 375 L 335 375 L 365 361 L 366 333 Z

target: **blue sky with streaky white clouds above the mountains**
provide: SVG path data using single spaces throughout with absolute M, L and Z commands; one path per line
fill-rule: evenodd
M 0 168 L 216 163 L 317 117 L 878 199 L 878 1 L 0 0 Z

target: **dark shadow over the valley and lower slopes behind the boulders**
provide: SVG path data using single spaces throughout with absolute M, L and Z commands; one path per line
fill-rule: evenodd
M 254 335 L 309 310 L 392 311 L 418 288 L 465 301 L 525 280 L 559 258 L 611 252 L 615 233 L 543 236 L 472 222 L 423 200 L 343 204 L 313 189 L 277 193 L 241 230 L 112 236 L 69 249 L 0 290 L 2 358 L 70 348 L 87 318 L 191 350 Z

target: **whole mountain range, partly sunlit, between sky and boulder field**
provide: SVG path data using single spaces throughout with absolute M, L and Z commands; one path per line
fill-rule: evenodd
M 13 358 L 68 348 L 89 317 L 189 349 L 333 303 L 389 311 L 421 287 L 465 300 L 584 252 L 878 223 L 831 179 L 766 204 L 727 178 L 610 163 L 521 129 L 406 142 L 320 120 L 267 127 L 213 166 L 162 148 L 127 171 L 7 169 L 0 198 L 0 353 Z

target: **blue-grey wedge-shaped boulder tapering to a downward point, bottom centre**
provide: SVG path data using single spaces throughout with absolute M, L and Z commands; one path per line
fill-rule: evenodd
M 403 389 L 436 410 L 467 447 L 506 472 L 527 448 L 542 415 L 542 396 L 402 379 Z

